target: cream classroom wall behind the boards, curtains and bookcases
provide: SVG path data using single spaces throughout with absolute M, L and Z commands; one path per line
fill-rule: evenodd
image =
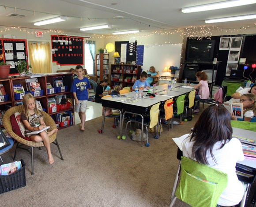
M 2 29 L 0 27 L 0 29 Z M 26 30 L 19 31 L 18 29 L 10 29 L 8 31 L 0 30 L 0 37 L 3 38 L 4 34 L 11 34 L 15 35 L 15 38 L 17 39 L 26 39 L 27 42 L 29 41 L 43 41 L 43 42 L 49 42 L 51 41 L 50 35 L 57 35 L 57 33 L 45 33 L 43 38 L 36 38 L 34 34 L 28 33 L 35 30 Z M 187 30 L 186 30 L 187 31 Z M 194 34 L 197 33 L 196 30 L 193 31 Z M 212 29 L 211 33 L 209 35 L 211 36 L 221 36 L 221 35 L 236 35 L 236 34 L 254 34 L 255 33 L 255 27 L 250 28 L 227 28 L 227 29 Z M 86 33 L 68 33 L 73 36 L 75 35 L 82 35 L 82 36 L 90 36 L 90 34 Z M 198 30 L 198 34 L 200 34 L 200 28 Z M 61 33 L 60 35 L 63 35 Z M 138 41 L 138 45 L 145 45 L 146 53 L 148 55 L 144 55 L 143 62 L 145 64 L 145 69 L 148 70 L 149 65 L 151 64 L 159 64 L 159 72 L 162 65 L 160 63 L 166 63 L 166 64 L 177 64 L 178 62 L 182 63 L 184 61 L 184 51 L 185 51 L 185 43 L 186 43 L 186 37 L 188 36 L 188 33 L 185 32 L 176 32 L 176 33 L 168 33 L 168 34 L 160 34 L 160 33 L 136 33 L 136 34 L 130 34 L 130 35 L 109 35 L 109 36 L 98 36 L 94 39 L 96 41 L 96 53 L 98 53 L 99 48 L 105 48 L 105 45 L 109 42 L 115 43 L 115 41 L 129 41 L 129 40 L 136 40 Z M 169 46 L 168 46 L 169 45 Z M 176 46 L 177 45 L 177 46 Z M 181 50 L 179 48 L 179 45 L 181 45 Z M 162 49 L 161 49 L 162 48 Z M 169 48 L 169 49 L 168 49 Z M 175 49 L 178 48 L 178 49 Z M 166 52 L 167 51 L 167 52 Z M 109 63 L 113 64 L 113 52 L 109 53 Z M 169 55 L 166 55 L 169 54 Z M 175 54 L 175 55 L 173 55 Z M 177 54 L 181 54 L 180 56 Z M 157 60 L 159 60 L 159 63 L 154 62 L 152 63 L 151 60 L 154 57 L 158 57 Z M 174 58 L 175 57 L 175 58 Z M 157 61 L 154 60 L 154 61 Z M 178 66 L 178 65 L 177 65 Z M 57 67 L 56 63 L 52 63 L 52 71 L 56 72 L 56 70 L 67 70 L 69 69 L 69 66 L 60 66 L 60 68 Z M 182 65 L 181 65 L 182 68 Z M 161 73 L 160 73 L 161 75 Z

